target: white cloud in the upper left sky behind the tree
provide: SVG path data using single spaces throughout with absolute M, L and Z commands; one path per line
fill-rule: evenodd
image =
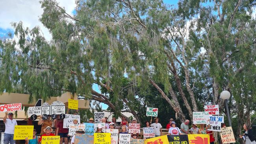
M 57 0 L 59 6 L 65 7 L 67 13 L 72 15 L 72 11 L 76 7 L 75 0 Z M 51 34 L 39 22 L 39 17 L 42 15 L 43 9 L 39 0 L 0 0 L 0 28 L 13 29 L 11 22 L 22 21 L 25 27 L 33 28 L 40 26 L 46 40 L 50 41 Z

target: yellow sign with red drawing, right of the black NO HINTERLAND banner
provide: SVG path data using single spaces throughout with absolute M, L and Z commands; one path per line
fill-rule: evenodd
M 189 144 L 210 144 L 210 135 L 187 135 Z

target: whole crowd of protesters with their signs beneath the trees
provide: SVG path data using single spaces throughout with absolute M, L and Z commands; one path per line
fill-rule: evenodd
M 157 111 L 157 108 L 147 108 L 146 115 L 157 116 Z M 4 144 L 15 144 L 19 138 L 25 140 L 25 144 L 214 144 L 214 131 L 220 133 L 221 144 L 236 142 L 232 127 L 226 127 L 223 116 L 212 116 L 208 112 L 193 112 L 193 121 L 185 120 L 181 125 L 173 118 L 169 119 L 168 124 L 160 124 L 158 117 L 151 116 L 151 120 L 143 124 L 145 127 L 141 127 L 136 118 L 131 123 L 124 116 L 121 122 L 117 122 L 115 117 L 108 120 L 103 112 L 94 113 L 94 118 L 83 123 L 80 123 L 78 110 L 75 114 L 68 114 L 69 109 L 64 115 L 56 113 L 39 116 L 41 131 L 37 134 L 33 126 L 19 127 L 13 113 L 6 111 L 3 118 Z M 56 121 L 57 125 L 54 126 Z M 246 144 L 256 144 L 250 127 L 244 125 L 243 128 L 245 133 L 239 138 Z M 26 133 L 17 132 L 19 129 Z

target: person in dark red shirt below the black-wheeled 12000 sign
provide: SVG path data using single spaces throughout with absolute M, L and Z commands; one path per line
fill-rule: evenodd
M 68 134 L 69 134 L 69 129 L 63 128 L 63 119 L 58 119 L 56 135 L 60 136 L 59 144 L 62 144 L 63 139 L 65 141 L 65 144 L 69 144 L 70 136 Z

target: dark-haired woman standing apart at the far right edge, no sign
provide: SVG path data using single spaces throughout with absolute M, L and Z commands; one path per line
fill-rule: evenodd
M 246 124 L 243 125 L 243 129 L 245 130 L 245 133 L 243 136 L 239 135 L 239 137 L 245 140 L 245 144 L 256 144 L 252 129 L 250 129 Z

